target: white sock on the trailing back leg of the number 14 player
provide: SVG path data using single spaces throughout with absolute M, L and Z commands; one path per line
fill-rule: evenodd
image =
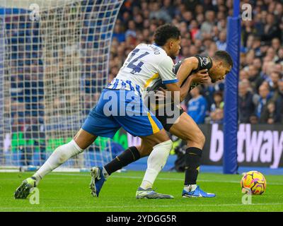
M 83 149 L 81 149 L 74 140 L 56 148 L 45 164 L 33 174 L 33 177 L 36 178 L 36 184 L 38 184 L 46 174 L 52 172 L 53 169 L 69 160 L 70 157 L 74 157 L 82 152 Z

